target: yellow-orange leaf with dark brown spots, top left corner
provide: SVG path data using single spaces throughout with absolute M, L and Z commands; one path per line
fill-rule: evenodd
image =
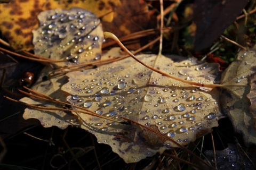
M 111 22 L 113 20 L 111 11 L 119 5 L 121 5 L 119 0 L 10 0 L 10 3 L 0 4 L 0 30 L 14 49 L 32 50 L 34 46 L 31 31 L 38 27 L 36 16 L 40 12 L 54 8 L 81 7 L 90 10 L 98 17 L 103 16 L 103 20 Z

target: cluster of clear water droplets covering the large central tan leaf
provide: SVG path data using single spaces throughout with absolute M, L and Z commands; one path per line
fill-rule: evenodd
M 143 61 L 150 64 L 154 60 Z M 105 65 L 78 73 L 85 78 L 80 82 L 73 81 L 77 75 L 68 74 L 70 81 L 76 82 L 66 86 L 66 91 L 73 94 L 69 98 L 77 95 L 74 104 L 114 120 L 122 121 L 119 117 L 123 116 L 143 125 L 156 125 L 161 133 L 183 143 L 217 122 L 220 115 L 217 102 L 204 90 L 182 87 L 178 81 L 129 62 L 127 59 L 116 66 Z M 161 66 L 169 71 L 168 64 Z M 79 99 L 83 99 L 82 103 L 77 102 Z M 102 121 L 96 129 L 109 130 L 108 123 Z

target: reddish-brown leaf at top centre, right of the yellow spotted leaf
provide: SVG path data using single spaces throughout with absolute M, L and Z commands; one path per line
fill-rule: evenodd
M 114 11 L 113 22 L 102 21 L 102 25 L 104 31 L 113 32 L 117 37 L 123 37 L 134 32 L 155 28 L 156 18 L 150 15 L 146 2 L 123 0 L 122 4 Z M 132 43 L 126 47 L 138 49 L 140 44 Z

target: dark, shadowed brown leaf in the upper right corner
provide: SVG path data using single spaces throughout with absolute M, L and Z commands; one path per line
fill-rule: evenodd
M 221 33 L 234 21 L 247 4 L 246 0 L 226 1 L 197 0 L 194 4 L 196 36 L 194 49 L 199 51 L 211 46 Z

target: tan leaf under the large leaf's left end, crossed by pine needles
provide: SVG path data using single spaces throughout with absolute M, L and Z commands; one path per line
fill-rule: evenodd
M 62 86 L 62 84 L 67 82 L 67 78 L 65 78 L 65 76 L 60 76 L 52 78 L 50 80 L 45 80 L 47 74 L 50 71 L 52 70 L 50 70 L 49 67 L 45 67 L 45 69 L 39 75 L 38 81 L 31 89 L 34 89 L 37 92 L 41 92 L 42 94 L 52 97 L 54 99 L 65 101 L 69 94 L 67 92 L 61 91 L 60 87 Z M 20 99 L 20 101 L 38 106 L 57 108 L 54 103 L 38 101 L 36 99 L 28 97 L 24 97 Z M 78 121 L 78 117 L 71 114 L 71 112 L 68 113 L 63 111 L 42 111 L 41 109 L 29 107 L 25 109 L 23 118 L 25 118 L 25 120 L 27 120 L 28 118 L 37 118 L 45 128 L 51 126 L 58 126 L 60 129 L 65 129 L 68 125 L 78 126 L 80 124 Z

